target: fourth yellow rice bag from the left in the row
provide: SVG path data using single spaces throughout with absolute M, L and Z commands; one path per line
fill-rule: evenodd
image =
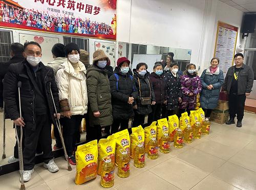
M 138 127 L 133 127 L 132 128 L 132 134 L 130 136 L 131 139 L 131 158 L 134 158 L 134 153 L 135 153 L 135 149 L 136 146 L 139 142 L 144 143 L 145 140 L 145 134 L 144 134 L 144 129 L 142 128 L 142 126 L 138 126 Z

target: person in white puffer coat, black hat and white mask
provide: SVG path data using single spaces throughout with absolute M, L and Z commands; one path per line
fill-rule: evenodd
M 60 64 L 56 74 L 61 109 L 63 138 L 69 162 L 76 165 L 74 155 L 77 134 L 83 118 L 88 110 L 86 67 L 79 61 L 79 48 L 75 43 L 65 47 L 67 62 Z

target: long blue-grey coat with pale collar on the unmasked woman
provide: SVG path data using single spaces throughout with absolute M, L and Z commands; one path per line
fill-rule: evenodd
M 221 86 L 224 83 L 223 71 L 218 69 L 214 74 L 210 73 L 210 67 L 205 69 L 201 75 L 202 91 L 200 94 L 201 107 L 205 109 L 214 109 L 217 107 Z M 214 88 L 207 89 L 208 85 Z

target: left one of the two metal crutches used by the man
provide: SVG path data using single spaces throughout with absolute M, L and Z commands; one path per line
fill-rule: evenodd
M 22 82 L 18 82 L 18 103 L 19 103 L 19 117 L 22 118 L 22 103 L 20 102 L 20 88 L 22 88 Z M 18 138 L 17 126 L 15 124 L 15 133 L 18 144 L 18 157 L 19 157 L 19 173 L 20 173 L 20 190 L 25 190 L 25 184 L 23 179 L 24 167 L 23 167 L 23 151 L 22 151 L 22 139 L 23 139 L 23 129 L 20 127 L 20 139 Z

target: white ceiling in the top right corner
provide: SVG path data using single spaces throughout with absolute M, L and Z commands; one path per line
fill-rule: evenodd
M 256 0 L 220 0 L 221 2 L 234 7 L 244 13 L 256 12 Z

